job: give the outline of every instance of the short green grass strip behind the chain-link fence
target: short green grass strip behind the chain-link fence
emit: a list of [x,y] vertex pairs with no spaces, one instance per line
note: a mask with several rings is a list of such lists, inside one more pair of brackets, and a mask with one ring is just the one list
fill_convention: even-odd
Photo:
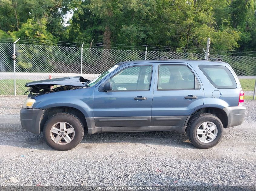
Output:
[[[30,82],[33,80],[16,80],[16,94],[17,95],[23,95],[25,91],[28,90],[27,87],[25,87],[25,84],[27,82]],[[244,91],[253,91],[254,90],[254,83],[255,79],[239,79],[241,86]],[[10,80],[0,80],[0,95],[13,95],[14,94],[14,81],[12,79]],[[253,96],[247,96],[245,95],[245,100],[252,100]]]

